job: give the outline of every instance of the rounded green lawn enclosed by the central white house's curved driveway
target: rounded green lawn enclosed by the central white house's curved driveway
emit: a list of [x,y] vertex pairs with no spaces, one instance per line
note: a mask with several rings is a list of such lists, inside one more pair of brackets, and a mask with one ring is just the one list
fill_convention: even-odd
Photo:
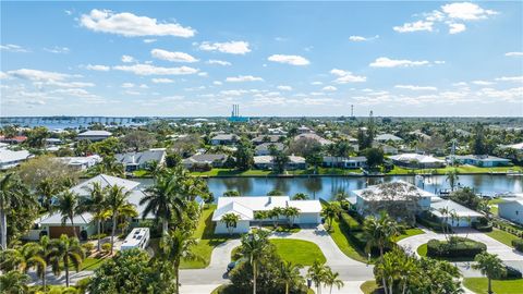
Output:
[[308,241],[271,238],[270,243],[275,244],[278,254],[287,261],[302,266],[312,266],[315,260],[319,260],[321,264],[327,261],[318,245]]

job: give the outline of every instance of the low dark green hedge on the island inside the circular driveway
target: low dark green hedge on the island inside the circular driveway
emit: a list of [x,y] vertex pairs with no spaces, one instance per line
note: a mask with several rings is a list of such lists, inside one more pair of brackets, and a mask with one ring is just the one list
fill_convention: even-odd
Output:
[[451,236],[451,240],[430,240],[427,243],[427,256],[429,257],[471,257],[485,252],[487,245],[470,238]]

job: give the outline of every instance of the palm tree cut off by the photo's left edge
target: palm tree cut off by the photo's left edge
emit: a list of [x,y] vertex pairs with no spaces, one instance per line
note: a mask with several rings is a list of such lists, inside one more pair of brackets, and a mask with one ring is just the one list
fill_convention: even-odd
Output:
[[27,187],[13,173],[8,173],[0,179],[0,240],[2,249],[8,248],[8,211],[15,207],[32,207],[36,204]]

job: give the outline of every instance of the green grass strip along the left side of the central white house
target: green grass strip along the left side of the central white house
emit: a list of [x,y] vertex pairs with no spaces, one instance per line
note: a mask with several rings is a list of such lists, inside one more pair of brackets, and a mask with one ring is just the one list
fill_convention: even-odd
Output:
[[212,249],[221,243],[228,241],[231,237],[238,237],[238,235],[216,235],[215,223],[212,222],[212,212],[216,209],[216,205],[206,207],[202,211],[198,226],[194,231],[193,237],[198,241],[198,244],[192,248],[192,252],[200,257],[196,260],[182,260],[181,269],[203,269],[209,266],[210,255]]

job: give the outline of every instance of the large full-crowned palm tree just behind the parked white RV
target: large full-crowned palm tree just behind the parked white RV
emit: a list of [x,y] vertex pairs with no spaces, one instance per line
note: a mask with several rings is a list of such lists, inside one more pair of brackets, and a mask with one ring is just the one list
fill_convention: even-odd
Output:
[[179,197],[179,188],[177,177],[163,173],[158,175],[156,183],[145,191],[145,197],[139,200],[139,205],[146,204],[142,218],[153,212],[161,220],[163,234],[167,234],[173,218],[179,222],[182,220],[185,203]]

